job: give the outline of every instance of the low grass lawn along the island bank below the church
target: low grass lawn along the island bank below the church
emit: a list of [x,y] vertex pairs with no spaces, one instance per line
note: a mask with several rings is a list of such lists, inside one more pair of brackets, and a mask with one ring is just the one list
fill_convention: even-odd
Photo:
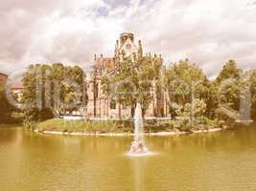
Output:
[[[215,125],[195,125],[184,126],[178,120],[147,120],[144,121],[145,132],[173,132],[191,130],[205,130],[215,128]],[[40,122],[35,129],[38,131],[70,131],[70,132],[85,132],[85,133],[132,133],[132,120],[66,120],[62,118],[53,118]]]

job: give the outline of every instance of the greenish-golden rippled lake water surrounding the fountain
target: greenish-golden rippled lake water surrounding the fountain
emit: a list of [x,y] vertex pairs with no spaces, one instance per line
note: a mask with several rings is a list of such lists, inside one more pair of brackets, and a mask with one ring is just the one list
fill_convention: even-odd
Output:
[[256,127],[147,138],[144,158],[125,155],[131,140],[0,128],[0,190],[256,190]]

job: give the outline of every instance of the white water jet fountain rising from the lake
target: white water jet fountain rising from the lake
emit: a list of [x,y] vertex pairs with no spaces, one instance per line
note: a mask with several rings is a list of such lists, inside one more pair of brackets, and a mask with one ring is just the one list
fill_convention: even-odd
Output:
[[134,140],[129,149],[129,155],[145,155],[149,152],[144,141],[144,127],[141,104],[137,103],[134,115]]

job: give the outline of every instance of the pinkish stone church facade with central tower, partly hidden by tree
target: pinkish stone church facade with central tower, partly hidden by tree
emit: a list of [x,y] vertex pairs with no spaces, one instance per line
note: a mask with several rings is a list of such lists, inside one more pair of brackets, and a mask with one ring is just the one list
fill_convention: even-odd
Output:
[[[109,100],[102,90],[101,78],[104,75],[111,75],[115,72],[116,60],[122,60],[126,56],[136,55],[145,56],[143,54],[142,43],[139,40],[138,44],[134,43],[133,33],[122,33],[120,39],[116,41],[115,53],[113,57],[104,57],[102,54],[100,57],[94,56],[94,64],[92,72],[87,74],[88,77],[88,104],[86,109],[87,117],[99,117],[99,118],[128,118],[131,116],[130,107],[125,107],[120,103],[116,103],[114,100]],[[150,54],[147,56],[151,57]],[[160,59],[163,63],[161,56],[152,56],[151,61],[154,59]],[[168,117],[168,107],[166,95],[162,91],[157,91],[154,85],[151,92],[152,101],[151,105],[145,113],[145,117]]]

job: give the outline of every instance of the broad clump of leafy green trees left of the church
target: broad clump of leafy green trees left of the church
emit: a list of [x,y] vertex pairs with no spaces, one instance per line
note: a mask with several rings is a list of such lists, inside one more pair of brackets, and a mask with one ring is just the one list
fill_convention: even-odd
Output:
[[[24,110],[26,125],[85,107],[84,79],[84,73],[78,66],[65,67],[60,63],[31,65],[23,75],[22,102],[27,106]],[[75,100],[72,107],[64,107]]]

